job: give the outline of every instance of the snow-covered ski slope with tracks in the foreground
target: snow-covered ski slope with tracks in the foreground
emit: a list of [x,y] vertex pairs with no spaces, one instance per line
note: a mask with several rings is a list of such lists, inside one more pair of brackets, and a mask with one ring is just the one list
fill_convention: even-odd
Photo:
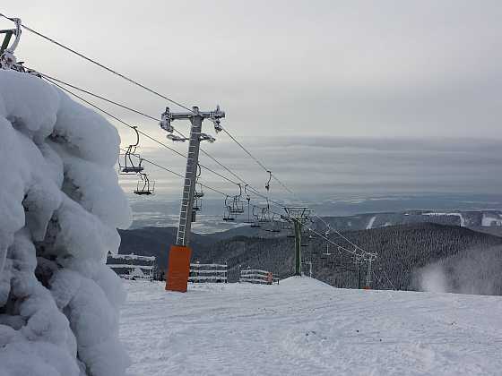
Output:
[[126,281],[128,375],[500,375],[502,298]]

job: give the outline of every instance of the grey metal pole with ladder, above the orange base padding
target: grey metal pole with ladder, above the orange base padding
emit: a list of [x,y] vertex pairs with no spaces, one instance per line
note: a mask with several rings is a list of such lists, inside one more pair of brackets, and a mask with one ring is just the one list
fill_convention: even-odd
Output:
[[185,184],[183,185],[183,198],[179,210],[179,225],[177,226],[176,244],[187,246],[192,228],[192,211],[194,208],[195,180],[197,177],[197,164],[199,162],[200,135],[203,126],[203,116],[199,115],[199,108],[193,107],[194,115],[190,118],[190,142],[188,145],[188,158],[186,158]]

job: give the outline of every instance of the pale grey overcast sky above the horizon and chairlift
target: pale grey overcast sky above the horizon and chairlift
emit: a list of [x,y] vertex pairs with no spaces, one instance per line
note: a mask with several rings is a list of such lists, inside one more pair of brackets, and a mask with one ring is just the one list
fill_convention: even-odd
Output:
[[[223,126],[302,197],[496,193],[502,184],[499,1],[27,1],[0,13],[188,107],[219,104]],[[16,56],[150,115],[169,105],[26,31]],[[186,152],[156,122],[95,103]],[[133,140],[117,129],[125,146]],[[264,192],[264,171],[216,137],[204,150]],[[140,152],[184,172],[183,158],[151,141]],[[180,178],[149,172],[161,195],[179,196]],[[237,189],[204,170],[201,180]],[[274,182],[271,194],[289,195]]]

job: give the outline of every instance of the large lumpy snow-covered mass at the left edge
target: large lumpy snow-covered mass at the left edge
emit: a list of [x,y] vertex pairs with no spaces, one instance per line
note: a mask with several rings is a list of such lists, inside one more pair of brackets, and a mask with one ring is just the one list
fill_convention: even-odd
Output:
[[120,281],[131,213],[117,130],[61,90],[0,70],[0,375],[125,373]]

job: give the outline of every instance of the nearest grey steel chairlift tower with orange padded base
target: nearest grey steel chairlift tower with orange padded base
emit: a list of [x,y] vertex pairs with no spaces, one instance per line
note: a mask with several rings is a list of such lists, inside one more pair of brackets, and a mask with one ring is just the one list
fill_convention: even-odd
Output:
[[[169,111],[169,107],[167,107],[160,118],[160,128],[169,132],[167,136],[169,140],[189,141],[176,244],[172,245],[169,250],[166,290],[186,292],[188,275],[190,273],[190,257],[192,254],[188,244],[192,222],[195,219],[195,181],[197,178],[197,166],[199,164],[200,144],[201,141],[215,141],[211,135],[202,132],[203,120],[210,119],[214,124],[214,130],[220,132],[222,130],[220,119],[223,117],[225,117],[225,113],[220,110],[220,107],[216,107],[214,111],[199,111],[199,107],[192,107],[192,111],[179,113],[172,113]],[[192,124],[188,139],[173,134],[175,129],[171,125],[171,122],[181,119],[189,120]]]

